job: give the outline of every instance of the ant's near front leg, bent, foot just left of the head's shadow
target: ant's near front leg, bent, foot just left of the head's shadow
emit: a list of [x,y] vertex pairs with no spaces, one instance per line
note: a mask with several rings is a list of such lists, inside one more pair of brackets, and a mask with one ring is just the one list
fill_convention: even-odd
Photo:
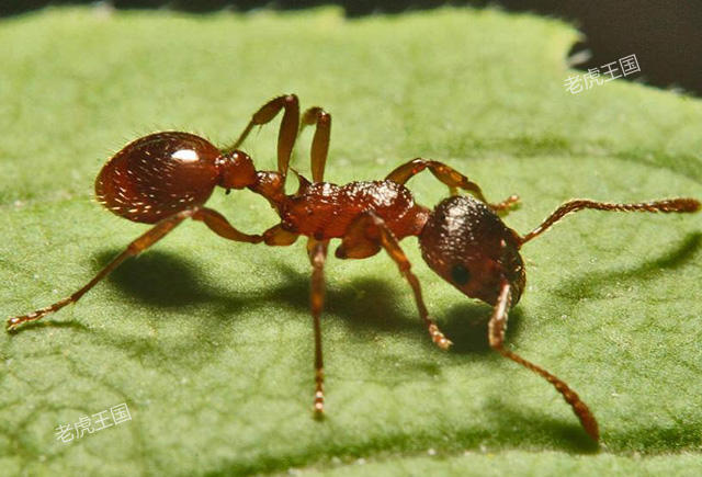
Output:
[[[374,242],[374,243],[373,243]],[[349,231],[336,251],[340,259],[365,258],[375,254],[380,247],[383,247],[388,255],[395,261],[399,272],[405,276],[415,294],[415,302],[419,310],[419,317],[427,325],[431,340],[442,350],[448,350],[453,344],[439,330],[437,323],[429,317],[429,311],[421,296],[421,286],[417,275],[411,272],[411,263],[400,248],[392,230],[387,228],[385,222],[374,212],[366,212],[361,215],[350,227]]]

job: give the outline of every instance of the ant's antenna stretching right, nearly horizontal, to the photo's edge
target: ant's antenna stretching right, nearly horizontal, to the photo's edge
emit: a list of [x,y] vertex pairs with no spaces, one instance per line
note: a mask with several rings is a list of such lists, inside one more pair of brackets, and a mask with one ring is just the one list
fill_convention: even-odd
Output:
[[596,202],[588,200],[570,201],[558,207],[551,214],[539,227],[521,238],[521,243],[537,237],[547,230],[556,222],[561,220],[571,212],[582,211],[585,208],[595,208],[598,211],[615,211],[615,212],[697,212],[700,209],[700,202],[694,198],[667,198],[664,201],[643,202],[638,204],[612,204],[607,202]]

